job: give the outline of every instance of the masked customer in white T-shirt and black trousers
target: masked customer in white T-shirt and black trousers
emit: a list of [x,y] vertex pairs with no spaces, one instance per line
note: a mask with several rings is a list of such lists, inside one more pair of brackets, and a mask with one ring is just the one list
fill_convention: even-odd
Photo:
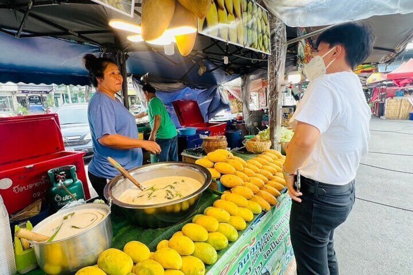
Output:
[[370,138],[371,111],[353,70],[374,40],[367,24],[337,25],[318,37],[317,55],[304,67],[310,84],[290,120],[295,134],[283,166],[298,275],[338,275],[334,230],[353,208],[354,178]]

